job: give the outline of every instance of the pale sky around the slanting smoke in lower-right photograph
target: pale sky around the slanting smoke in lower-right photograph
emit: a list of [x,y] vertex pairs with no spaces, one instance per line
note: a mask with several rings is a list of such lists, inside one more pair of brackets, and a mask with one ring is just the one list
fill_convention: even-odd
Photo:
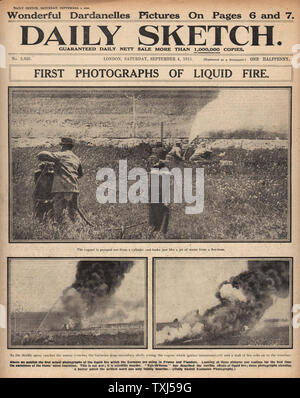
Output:
[[[219,304],[219,285],[247,270],[247,259],[161,259],[156,261],[156,321],[172,322],[190,311]],[[289,299],[274,299],[264,318],[285,318]]]

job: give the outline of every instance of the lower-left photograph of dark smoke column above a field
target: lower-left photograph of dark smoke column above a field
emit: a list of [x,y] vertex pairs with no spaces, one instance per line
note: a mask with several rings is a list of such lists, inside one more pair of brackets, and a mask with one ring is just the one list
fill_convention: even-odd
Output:
[[10,258],[8,348],[146,348],[143,258]]

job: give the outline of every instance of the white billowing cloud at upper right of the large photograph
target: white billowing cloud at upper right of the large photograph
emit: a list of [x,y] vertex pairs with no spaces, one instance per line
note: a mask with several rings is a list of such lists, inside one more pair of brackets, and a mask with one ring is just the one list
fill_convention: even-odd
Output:
[[288,90],[222,89],[215,100],[198,112],[190,141],[219,132],[225,136],[241,130],[287,134],[288,129]]

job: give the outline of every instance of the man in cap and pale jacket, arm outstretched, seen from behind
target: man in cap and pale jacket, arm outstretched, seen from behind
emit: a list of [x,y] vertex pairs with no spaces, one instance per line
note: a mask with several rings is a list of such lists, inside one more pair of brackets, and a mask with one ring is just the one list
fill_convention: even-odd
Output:
[[54,194],[54,218],[62,222],[63,211],[68,209],[69,217],[74,222],[78,209],[78,178],[83,175],[80,159],[72,151],[74,141],[63,137],[60,142],[61,152],[43,151],[38,159],[55,163],[55,172],[52,185]]

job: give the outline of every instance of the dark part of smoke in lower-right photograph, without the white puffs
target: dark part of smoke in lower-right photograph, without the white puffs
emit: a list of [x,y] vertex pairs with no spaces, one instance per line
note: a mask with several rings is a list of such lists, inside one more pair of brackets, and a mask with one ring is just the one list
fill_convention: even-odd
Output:
[[220,304],[203,314],[204,332],[213,335],[239,334],[253,327],[272,306],[273,296],[289,294],[289,261],[248,261],[248,270],[225,283],[240,289],[245,300],[222,296],[220,286],[216,297]]

